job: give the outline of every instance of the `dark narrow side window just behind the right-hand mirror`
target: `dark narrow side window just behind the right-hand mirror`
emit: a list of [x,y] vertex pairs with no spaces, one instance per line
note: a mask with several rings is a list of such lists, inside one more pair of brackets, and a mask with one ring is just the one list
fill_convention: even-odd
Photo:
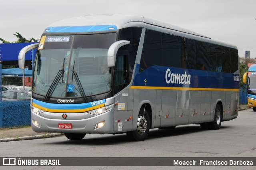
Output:
[[129,82],[128,53],[118,52],[116,56],[115,94],[124,89]]

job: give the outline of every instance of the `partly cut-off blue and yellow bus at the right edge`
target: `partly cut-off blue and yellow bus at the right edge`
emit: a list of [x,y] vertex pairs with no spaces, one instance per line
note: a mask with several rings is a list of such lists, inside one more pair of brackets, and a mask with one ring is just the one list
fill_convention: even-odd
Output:
[[244,73],[243,82],[246,83],[248,106],[256,111],[256,64],[252,64]]

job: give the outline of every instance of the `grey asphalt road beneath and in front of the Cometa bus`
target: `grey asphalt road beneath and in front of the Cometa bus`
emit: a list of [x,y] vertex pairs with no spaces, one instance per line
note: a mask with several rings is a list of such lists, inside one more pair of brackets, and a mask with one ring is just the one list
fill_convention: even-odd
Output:
[[[256,157],[255,123],[256,112],[248,109],[240,111],[237,119],[222,122],[220,130],[202,130],[200,125],[178,126],[174,130],[152,129],[148,138],[142,142],[130,142],[126,134],[86,134],[80,141],[71,141],[61,136],[2,142],[0,157]],[[44,168],[51,169],[49,166]],[[66,168],[68,167],[62,166],[62,169]],[[113,167],[97,166],[86,169],[102,168],[113,169]],[[144,166],[114,167],[114,169],[137,168],[155,169]],[[170,169],[170,167],[163,166],[159,168]],[[183,169],[184,167],[171,168]],[[187,168],[241,169],[243,167],[192,166]],[[254,169],[255,166],[244,168]]]

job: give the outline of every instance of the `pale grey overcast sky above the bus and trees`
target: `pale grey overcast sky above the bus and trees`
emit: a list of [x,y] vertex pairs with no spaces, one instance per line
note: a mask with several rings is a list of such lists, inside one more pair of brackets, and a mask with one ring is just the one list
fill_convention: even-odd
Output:
[[[256,57],[256,0],[1,0],[0,38],[40,39],[59,20],[97,14],[138,14],[234,44]],[[1,42],[0,42],[1,43]]]

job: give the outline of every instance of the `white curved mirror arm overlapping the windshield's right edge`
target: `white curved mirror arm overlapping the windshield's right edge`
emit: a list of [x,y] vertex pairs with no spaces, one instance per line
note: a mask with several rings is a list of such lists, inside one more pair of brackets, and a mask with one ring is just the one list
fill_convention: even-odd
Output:
[[123,45],[129,44],[130,41],[120,40],[114,42],[108,49],[108,67],[114,67],[116,63],[116,53],[120,47]]

